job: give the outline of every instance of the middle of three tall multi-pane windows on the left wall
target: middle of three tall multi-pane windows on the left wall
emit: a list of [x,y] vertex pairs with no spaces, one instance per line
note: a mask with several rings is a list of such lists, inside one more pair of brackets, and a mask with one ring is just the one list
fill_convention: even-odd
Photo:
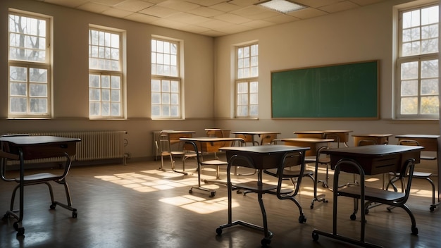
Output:
[[89,28],[89,117],[123,118],[121,33]]

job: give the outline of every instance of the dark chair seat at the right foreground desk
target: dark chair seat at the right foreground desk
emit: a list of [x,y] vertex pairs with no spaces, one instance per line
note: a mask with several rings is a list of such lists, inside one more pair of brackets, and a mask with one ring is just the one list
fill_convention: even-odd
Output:
[[[345,187],[338,192],[339,195],[360,199],[360,187]],[[396,202],[406,197],[404,192],[381,190],[374,187],[364,187],[364,197],[371,202]]]

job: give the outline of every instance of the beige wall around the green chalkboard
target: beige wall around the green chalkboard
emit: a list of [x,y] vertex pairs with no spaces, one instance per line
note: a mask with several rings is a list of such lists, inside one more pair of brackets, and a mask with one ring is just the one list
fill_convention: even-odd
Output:
[[[280,130],[294,137],[301,130],[353,130],[353,134],[439,134],[438,120],[393,120],[393,64],[396,39],[393,9],[409,1],[385,1],[352,11],[321,16],[216,39],[216,124],[232,130]],[[259,120],[234,120],[235,44],[259,42]],[[271,119],[271,71],[380,61],[379,120],[275,120]],[[396,144],[395,138],[390,140]],[[350,142],[351,144],[351,142]]]

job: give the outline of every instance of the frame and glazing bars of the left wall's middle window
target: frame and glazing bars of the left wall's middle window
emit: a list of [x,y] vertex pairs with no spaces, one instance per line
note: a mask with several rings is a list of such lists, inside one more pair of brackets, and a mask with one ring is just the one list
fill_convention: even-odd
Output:
[[[113,35],[118,35],[119,36],[119,51],[118,51],[118,67],[119,70],[108,70],[108,69],[98,69],[98,68],[91,68],[90,67],[90,59],[91,59],[91,46],[92,44],[91,42],[91,37],[90,37],[90,32],[91,30],[94,31],[99,31],[99,32],[105,32],[105,33],[109,33],[109,34],[113,34]],[[88,59],[89,59],[89,80],[88,80],[88,89],[89,89],[89,119],[91,120],[111,120],[111,119],[125,119],[125,76],[124,76],[124,70],[123,70],[123,63],[124,63],[124,58],[125,58],[125,54],[124,54],[124,49],[123,49],[123,42],[124,42],[124,31],[123,30],[116,30],[114,28],[111,27],[101,27],[101,26],[96,26],[96,25],[89,25],[88,28],[88,42],[87,42],[87,46],[88,46]],[[100,86],[99,87],[91,87],[90,85],[90,77],[91,75],[99,75],[100,77]],[[119,91],[119,101],[118,100],[112,100],[111,99],[111,92],[112,92],[112,87],[111,85],[109,87],[102,87],[101,86],[101,77],[103,76],[108,76],[108,77],[119,77],[120,78],[120,85],[119,88],[116,88]],[[91,91],[93,89],[99,89],[99,93],[100,93],[100,97],[99,100],[92,100],[91,99]],[[109,90],[109,99],[108,101],[103,100],[102,99],[102,92],[104,90]],[[92,116],[91,114],[91,108],[92,108],[92,103],[99,103],[100,105],[100,110],[99,110],[99,115],[94,115]],[[109,106],[111,106],[113,103],[118,103],[119,104],[119,115],[112,115],[111,114],[111,107],[108,109],[109,114],[108,115],[103,115],[101,110],[102,110],[102,105],[103,104],[109,104]]]

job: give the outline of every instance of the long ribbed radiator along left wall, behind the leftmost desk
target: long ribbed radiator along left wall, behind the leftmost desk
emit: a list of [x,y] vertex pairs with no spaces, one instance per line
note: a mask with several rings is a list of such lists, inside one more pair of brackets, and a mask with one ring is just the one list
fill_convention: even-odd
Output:
[[[94,161],[100,159],[123,159],[126,164],[124,147],[128,140],[126,131],[88,131],[88,132],[26,132],[28,135],[44,135],[80,138],[77,142],[75,161]],[[28,163],[65,161],[65,158],[35,159]],[[10,161],[12,162],[12,161]]]

